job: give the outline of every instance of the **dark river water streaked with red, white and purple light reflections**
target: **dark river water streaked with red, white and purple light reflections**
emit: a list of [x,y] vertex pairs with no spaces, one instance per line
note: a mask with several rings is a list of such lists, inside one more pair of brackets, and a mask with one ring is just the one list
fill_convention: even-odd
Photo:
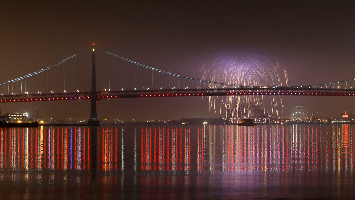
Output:
[[355,125],[0,129],[0,199],[354,199]]

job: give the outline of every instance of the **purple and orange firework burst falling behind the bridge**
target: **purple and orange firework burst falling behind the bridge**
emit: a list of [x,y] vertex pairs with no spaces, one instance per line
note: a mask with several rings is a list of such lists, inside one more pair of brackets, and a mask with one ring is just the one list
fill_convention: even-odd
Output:
[[[283,74],[282,76],[279,75],[279,71]],[[277,62],[273,65],[265,57],[245,53],[220,56],[214,60],[211,67],[205,64],[202,67],[202,72],[202,79],[210,79],[214,82],[226,84],[261,87],[285,86],[288,81],[286,70],[280,68]],[[217,87],[219,86],[209,84],[209,88]],[[220,102],[221,117],[222,109],[225,109],[226,116],[229,114],[232,120],[243,116],[243,114],[245,117],[253,117],[250,105],[263,104],[264,109],[271,111],[272,116],[278,116],[278,106],[281,105],[281,109],[283,108],[281,97],[274,96],[268,100],[263,98],[263,96],[222,96],[220,101],[217,101],[218,99],[218,96],[210,96],[208,98],[209,109],[213,108],[213,114],[215,114],[215,104]],[[247,105],[247,107],[240,106],[242,104]]]

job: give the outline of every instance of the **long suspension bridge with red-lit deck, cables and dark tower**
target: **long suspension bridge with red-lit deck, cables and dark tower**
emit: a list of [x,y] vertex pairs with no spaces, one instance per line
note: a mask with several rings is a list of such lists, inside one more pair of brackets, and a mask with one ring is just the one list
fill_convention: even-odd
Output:
[[[91,76],[91,78],[90,78]],[[137,63],[92,45],[56,64],[0,83],[0,103],[181,96],[355,96],[355,79],[305,86],[250,86],[192,78]]]

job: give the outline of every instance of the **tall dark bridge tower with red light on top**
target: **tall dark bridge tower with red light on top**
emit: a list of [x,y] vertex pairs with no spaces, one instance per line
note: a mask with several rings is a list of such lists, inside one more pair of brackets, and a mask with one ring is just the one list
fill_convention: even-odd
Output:
[[100,120],[96,113],[96,60],[95,60],[95,44],[92,46],[92,71],[91,71],[91,115],[88,120],[88,126],[100,126]]

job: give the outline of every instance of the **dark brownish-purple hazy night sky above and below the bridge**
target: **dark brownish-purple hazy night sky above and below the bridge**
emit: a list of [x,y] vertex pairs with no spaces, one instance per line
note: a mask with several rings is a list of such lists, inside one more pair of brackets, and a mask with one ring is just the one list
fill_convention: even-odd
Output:
[[[158,69],[201,78],[201,66],[225,52],[277,60],[288,84],[355,78],[354,1],[2,1],[0,82],[88,48]],[[354,98],[283,97],[280,116],[304,105],[323,116],[354,113]],[[89,101],[0,104],[1,114],[29,112],[60,119],[90,115]],[[201,98],[110,99],[99,119],[213,117]],[[215,116],[219,117],[219,116]]]

